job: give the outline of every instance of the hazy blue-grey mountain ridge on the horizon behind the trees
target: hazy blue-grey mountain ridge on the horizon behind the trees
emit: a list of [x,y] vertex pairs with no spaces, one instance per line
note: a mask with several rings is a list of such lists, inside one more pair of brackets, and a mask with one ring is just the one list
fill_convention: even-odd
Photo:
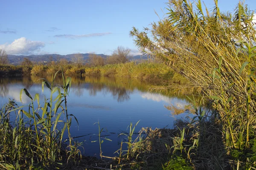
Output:
[[[67,59],[68,61],[72,60],[72,57],[74,57],[75,54],[67,54],[67,55],[60,55],[60,54],[43,54],[43,55],[29,55],[29,56],[25,56],[25,55],[8,55],[9,61],[11,64],[14,65],[18,65],[20,64],[23,59],[29,58],[31,61],[33,62],[49,62],[49,61],[58,61],[60,59]],[[89,59],[89,53],[86,54],[81,54],[84,57],[85,61],[88,61]],[[105,54],[96,54],[99,55],[103,58],[107,58],[108,55]],[[131,58],[131,60],[137,60],[137,59],[147,59],[146,56],[134,56]]]

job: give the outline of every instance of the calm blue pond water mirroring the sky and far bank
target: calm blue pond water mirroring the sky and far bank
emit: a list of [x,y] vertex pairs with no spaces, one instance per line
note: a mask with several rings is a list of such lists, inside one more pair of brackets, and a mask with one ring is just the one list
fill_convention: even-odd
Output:
[[[20,102],[22,88],[26,88],[31,96],[39,93],[41,102],[43,102],[44,95],[49,97],[49,91],[45,90],[44,94],[42,93],[41,82],[36,82],[38,79],[38,77],[0,78],[0,105],[3,106],[9,98],[15,99],[18,105],[28,105],[30,99],[25,95],[22,97],[22,103]],[[135,124],[140,120],[136,132],[141,127],[163,128],[167,126],[171,128],[176,118],[187,115],[187,113],[182,113],[172,117],[170,111],[164,107],[170,104],[180,107],[188,105],[185,97],[152,93],[147,91],[147,85],[152,84],[131,78],[72,78],[67,107],[69,113],[74,114],[78,119],[79,126],[72,121],[71,134],[73,137],[83,136],[76,139],[84,141],[85,155],[99,156],[99,143],[91,142],[97,140],[94,134],[98,133],[98,126],[93,124],[98,120],[100,126],[105,128],[105,133],[102,135],[110,135],[108,138],[112,140],[112,142],[105,140],[102,143],[103,155],[113,156],[113,153],[119,149],[121,140],[117,136],[120,132],[128,131],[127,127],[130,122]]]

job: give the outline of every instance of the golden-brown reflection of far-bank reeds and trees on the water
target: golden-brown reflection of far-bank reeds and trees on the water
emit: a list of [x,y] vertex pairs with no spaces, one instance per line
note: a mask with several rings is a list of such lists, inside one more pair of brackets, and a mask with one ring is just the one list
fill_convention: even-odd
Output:
[[[52,79],[51,76],[45,77],[1,77],[0,78],[0,96],[5,97],[9,93],[9,85],[22,84],[24,88],[29,90],[31,85],[41,86],[41,83],[47,79],[49,82]],[[61,77],[57,77],[55,80],[55,85],[62,84]],[[89,91],[90,96],[96,96],[97,93],[102,93],[103,95],[111,93],[113,99],[118,102],[125,102],[130,99],[130,95],[134,90],[147,91],[148,85],[157,85],[156,82],[148,82],[142,79],[132,79],[128,77],[72,77],[71,91],[77,97],[84,95],[85,91]],[[20,89],[19,89],[20,90]],[[164,92],[165,95],[172,96],[173,94],[168,94]],[[177,94],[175,94],[177,96]],[[185,98],[184,95],[179,96],[180,98]]]

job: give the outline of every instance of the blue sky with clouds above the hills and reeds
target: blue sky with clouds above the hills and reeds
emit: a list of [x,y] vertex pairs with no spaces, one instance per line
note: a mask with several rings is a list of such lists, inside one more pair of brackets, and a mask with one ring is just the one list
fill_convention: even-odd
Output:
[[[203,1],[203,0],[202,0]],[[238,0],[218,0],[233,11]],[[255,0],[245,0],[251,10]],[[163,18],[168,0],[1,0],[0,48],[8,54],[110,55],[118,45],[138,54],[132,26]],[[204,0],[207,6],[213,0]],[[155,11],[159,17],[155,14]]]

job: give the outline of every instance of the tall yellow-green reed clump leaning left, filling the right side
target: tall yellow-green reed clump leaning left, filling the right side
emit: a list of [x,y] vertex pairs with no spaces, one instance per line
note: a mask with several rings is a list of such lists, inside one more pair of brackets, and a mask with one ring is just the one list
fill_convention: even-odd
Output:
[[[227,169],[223,159],[219,159],[224,155],[226,159],[239,160],[238,168],[239,165],[255,168],[254,13],[241,2],[233,12],[227,13],[220,11],[217,0],[214,3],[211,10],[207,7],[203,10],[200,0],[169,0],[166,18],[143,31],[133,28],[130,35],[145,54],[164,62],[195,87],[201,88],[201,103],[211,104],[212,119],[207,119],[205,111],[195,108],[195,113],[200,112],[195,126],[200,127],[194,132],[198,138],[191,139],[195,142],[192,146],[204,145],[199,148],[211,157],[203,157],[205,155],[200,155],[202,152],[198,149],[195,151],[196,158],[205,165],[202,169]],[[195,123],[193,121],[189,125]],[[202,121],[208,121],[210,125]],[[218,133],[209,143],[218,146],[219,141],[223,142],[220,148],[223,152],[214,152],[207,142],[201,141],[202,134],[212,134],[213,126],[217,127],[214,131]]]

